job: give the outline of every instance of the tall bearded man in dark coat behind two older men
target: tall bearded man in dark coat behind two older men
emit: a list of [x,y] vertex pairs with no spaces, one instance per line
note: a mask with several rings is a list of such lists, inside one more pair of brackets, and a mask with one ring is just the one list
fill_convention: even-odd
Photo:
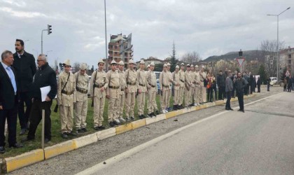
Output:
[[[20,39],[15,41],[13,54],[13,67],[18,76],[18,92],[20,92],[20,103],[18,105],[18,118],[20,120],[20,135],[28,130],[29,113],[31,111],[31,85],[36,73],[36,63],[33,55],[25,52],[25,43]],[[25,106],[27,109],[25,111]]]

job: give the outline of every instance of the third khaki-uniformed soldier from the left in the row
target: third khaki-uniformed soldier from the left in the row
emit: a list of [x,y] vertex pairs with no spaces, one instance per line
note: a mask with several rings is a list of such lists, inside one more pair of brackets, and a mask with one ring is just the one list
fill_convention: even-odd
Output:
[[106,78],[104,69],[104,62],[101,59],[98,62],[98,69],[92,73],[90,81],[90,93],[94,102],[93,120],[94,130],[104,130],[102,125],[104,118],[104,103],[106,96],[106,89],[109,87],[109,79]]

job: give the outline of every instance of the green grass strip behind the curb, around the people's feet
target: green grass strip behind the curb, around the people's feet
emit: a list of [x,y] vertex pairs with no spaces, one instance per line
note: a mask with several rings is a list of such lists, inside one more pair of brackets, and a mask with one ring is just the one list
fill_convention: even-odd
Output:
[[[97,132],[96,130],[94,130],[94,124],[93,124],[93,108],[91,107],[91,103],[92,103],[92,100],[91,99],[88,99],[88,109],[87,109],[87,119],[86,119],[86,122],[87,122],[87,133],[85,134],[78,134],[78,137],[82,137],[82,136],[85,136],[87,134],[92,134],[94,132]],[[156,103],[158,104],[158,109],[160,110],[160,96],[159,95],[156,95]],[[69,137],[69,139],[62,139],[61,137],[61,125],[60,125],[60,118],[59,118],[59,109],[58,109],[58,112],[55,113],[53,112],[53,109],[55,108],[55,105],[56,105],[56,100],[53,100],[52,102],[52,106],[51,106],[51,134],[52,134],[52,138],[51,138],[51,141],[48,143],[48,144],[45,144],[45,147],[47,146],[52,146],[52,145],[55,145],[55,144],[59,144],[63,141],[66,141],[66,140],[70,140],[70,139],[74,139],[76,137]],[[106,128],[109,128],[109,123],[108,123],[108,106],[109,106],[109,103],[108,103],[108,99],[106,99],[105,101],[105,107],[104,107],[104,122],[103,122],[103,125],[106,127]],[[170,106],[173,106],[173,98],[171,97],[170,99]],[[146,97],[146,103],[145,103],[145,109],[144,109],[144,114],[146,115],[148,112],[148,109],[147,109],[147,97]],[[125,118],[125,110],[123,112],[123,117]],[[136,104],[135,104],[135,107],[134,107],[134,117],[136,118],[136,120],[139,119],[138,117],[138,109],[137,109],[137,100],[136,100]],[[74,120],[73,120],[74,121]],[[15,155],[20,155],[22,153],[26,153],[28,151],[32,151],[32,150],[35,150],[37,148],[41,148],[41,129],[42,129],[42,126],[41,126],[42,122],[38,125],[38,128],[36,130],[36,137],[35,137],[35,140],[34,141],[26,141],[24,144],[24,147],[23,148],[18,148],[18,149],[15,149],[15,148],[8,148],[8,144],[7,144],[7,137],[6,137],[6,153],[4,154],[1,154],[0,155],[0,158],[8,158],[8,157],[13,157]],[[73,131],[75,131],[75,127],[73,125]],[[20,133],[20,125],[18,123],[18,127],[17,127],[17,140],[18,142],[20,142],[23,138],[27,137],[27,134],[23,135],[23,136],[20,136],[19,135]]]

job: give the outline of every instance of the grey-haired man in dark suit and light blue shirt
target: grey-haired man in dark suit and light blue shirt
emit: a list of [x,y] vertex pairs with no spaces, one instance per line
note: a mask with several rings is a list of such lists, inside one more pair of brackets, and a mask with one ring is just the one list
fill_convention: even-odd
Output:
[[5,153],[5,120],[8,123],[9,147],[20,148],[16,142],[16,123],[18,116],[18,87],[13,64],[13,53],[5,50],[0,64],[0,153]]

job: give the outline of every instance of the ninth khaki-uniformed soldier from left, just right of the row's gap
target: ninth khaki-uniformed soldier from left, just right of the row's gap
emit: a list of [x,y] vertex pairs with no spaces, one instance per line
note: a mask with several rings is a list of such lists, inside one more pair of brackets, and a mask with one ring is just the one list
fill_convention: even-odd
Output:
[[160,104],[162,113],[167,113],[167,106],[169,106],[169,73],[167,73],[167,64],[163,64],[163,71],[160,73]]

